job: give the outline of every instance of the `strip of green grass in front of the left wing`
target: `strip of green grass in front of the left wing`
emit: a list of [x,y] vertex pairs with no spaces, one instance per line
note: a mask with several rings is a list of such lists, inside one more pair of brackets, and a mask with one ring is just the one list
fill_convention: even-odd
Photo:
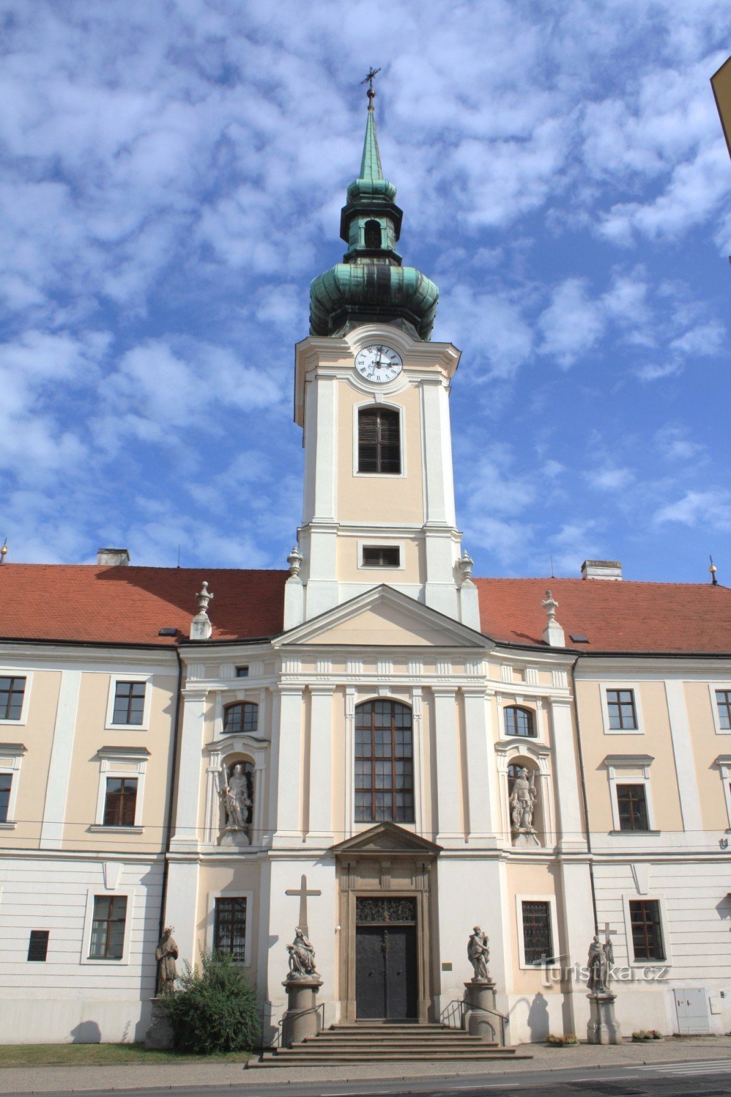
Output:
[[247,1052],[182,1055],[146,1051],[144,1043],[14,1043],[0,1044],[0,1066],[120,1066],[139,1063],[245,1063]]

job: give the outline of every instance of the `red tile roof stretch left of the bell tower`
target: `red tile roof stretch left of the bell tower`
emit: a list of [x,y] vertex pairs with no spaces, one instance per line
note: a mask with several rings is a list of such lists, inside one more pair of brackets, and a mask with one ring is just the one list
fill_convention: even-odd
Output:
[[236,568],[95,567],[3,564],[0,637],[160,644],[160,629],[190,634],[195,593],[207,579],[213,640],[254,640],[282,631],[289,572]]

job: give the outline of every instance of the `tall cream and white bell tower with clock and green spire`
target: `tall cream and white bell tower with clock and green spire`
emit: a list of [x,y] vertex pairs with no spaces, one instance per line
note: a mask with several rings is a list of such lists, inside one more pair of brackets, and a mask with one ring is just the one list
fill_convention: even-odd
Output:
[[[342,262],[314,280],[295,352],[304,502],[285,627],[387,584],[480,627],[457,529],[449,394],[460,352],[429,340],[439,291],[396,250],[402,211],[383,177],[373,100],[348,186]],[[378,642],[378,638],[374,641]]]

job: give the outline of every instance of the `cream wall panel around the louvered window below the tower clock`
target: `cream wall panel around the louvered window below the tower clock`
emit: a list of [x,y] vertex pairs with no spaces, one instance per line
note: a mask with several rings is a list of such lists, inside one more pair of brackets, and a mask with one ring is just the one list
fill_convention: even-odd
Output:
[[353,473],[353,408],[370,405],[362,392],[347,382],[338,384],[338,520],[340,522],[389,522],[421,525],[424,522],[421,477],[421,411],[419,391],[408,385],[384,405],[401,406],[403,412],[402,460],[405,476],[360,476]]

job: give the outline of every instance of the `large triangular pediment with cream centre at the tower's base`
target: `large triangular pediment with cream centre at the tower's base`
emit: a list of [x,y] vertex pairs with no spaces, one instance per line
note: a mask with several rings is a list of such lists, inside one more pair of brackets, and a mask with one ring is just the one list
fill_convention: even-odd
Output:
[[485,647],[473,629],[393,587],[374,587],[274,642],[353,647]]

